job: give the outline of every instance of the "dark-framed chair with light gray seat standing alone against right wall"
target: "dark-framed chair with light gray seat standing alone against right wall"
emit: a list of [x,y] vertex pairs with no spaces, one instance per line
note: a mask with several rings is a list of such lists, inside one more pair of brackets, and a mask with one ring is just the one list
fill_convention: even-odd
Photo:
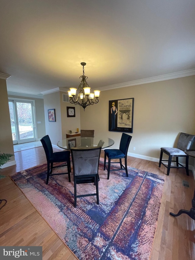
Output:
[[[164,165],[167,168],[167,175],[169,175],[171,168],[184,168],[184,169],[186,169],[186,174],[189,175],[189,168],[188,168],[189,156],[186,155],[184,151],[186,149],[190,148],[190,146],[194,142],[194,139],[195,139],[195,135],[180,133],[179,140],[177,143],[177,148],[161,147],[161,154],[160,154],[160,160],[159,160],[158,167],[161,167],[161,164]],[[168,160],[162,159],[163,153],[168,155]],[[172,157],[176,157],[176,160],[172,160]],[[185,166],[183,164],[179,163],[178,157],[186,158]],[[168,162],[168,165],[163,162]],[[176,166],[171,166],[172,162],[176,162]]]

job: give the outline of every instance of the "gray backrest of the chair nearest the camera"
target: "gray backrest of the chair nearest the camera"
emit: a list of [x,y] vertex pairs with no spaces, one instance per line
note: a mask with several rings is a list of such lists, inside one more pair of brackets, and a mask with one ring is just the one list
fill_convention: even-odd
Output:
[[73,147],[70,151],[75,176],[98,173],[101,146],[94,148]]

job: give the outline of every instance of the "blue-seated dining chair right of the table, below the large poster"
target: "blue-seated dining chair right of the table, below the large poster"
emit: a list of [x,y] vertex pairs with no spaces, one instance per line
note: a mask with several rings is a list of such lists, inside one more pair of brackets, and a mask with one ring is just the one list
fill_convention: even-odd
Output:
[[[119,171],[122,168],[125,169],[126,176],[128,177],[127,171],[127,152],[129,148],[129,144],[131,141],[132,136],[122,133],[121,141],[119,149],[105,149],[104,152],[104,170],[107,169],[109,180],[110,171]],[[106,162],[106,157],[108,157],[108,162]],[[122,164],[122,158],[125,158],[125,166]],[[112,159],[119,159],[119,162],[111,162]],[[120,163],[119,169],[110,169],[111,163]]]

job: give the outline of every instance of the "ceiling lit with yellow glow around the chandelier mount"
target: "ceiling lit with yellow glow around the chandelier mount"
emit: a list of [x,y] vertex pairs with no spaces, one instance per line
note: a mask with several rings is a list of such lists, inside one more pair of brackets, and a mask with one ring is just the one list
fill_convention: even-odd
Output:
[[195,68],[194,0],[1,0],[9,92],[92,89]]

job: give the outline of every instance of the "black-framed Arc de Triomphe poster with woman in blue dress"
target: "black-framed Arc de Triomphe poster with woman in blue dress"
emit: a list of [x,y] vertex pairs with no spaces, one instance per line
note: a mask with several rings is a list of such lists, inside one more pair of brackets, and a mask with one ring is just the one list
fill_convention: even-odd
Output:
[[109,131],[133,133],[134,98],[109,101]]

